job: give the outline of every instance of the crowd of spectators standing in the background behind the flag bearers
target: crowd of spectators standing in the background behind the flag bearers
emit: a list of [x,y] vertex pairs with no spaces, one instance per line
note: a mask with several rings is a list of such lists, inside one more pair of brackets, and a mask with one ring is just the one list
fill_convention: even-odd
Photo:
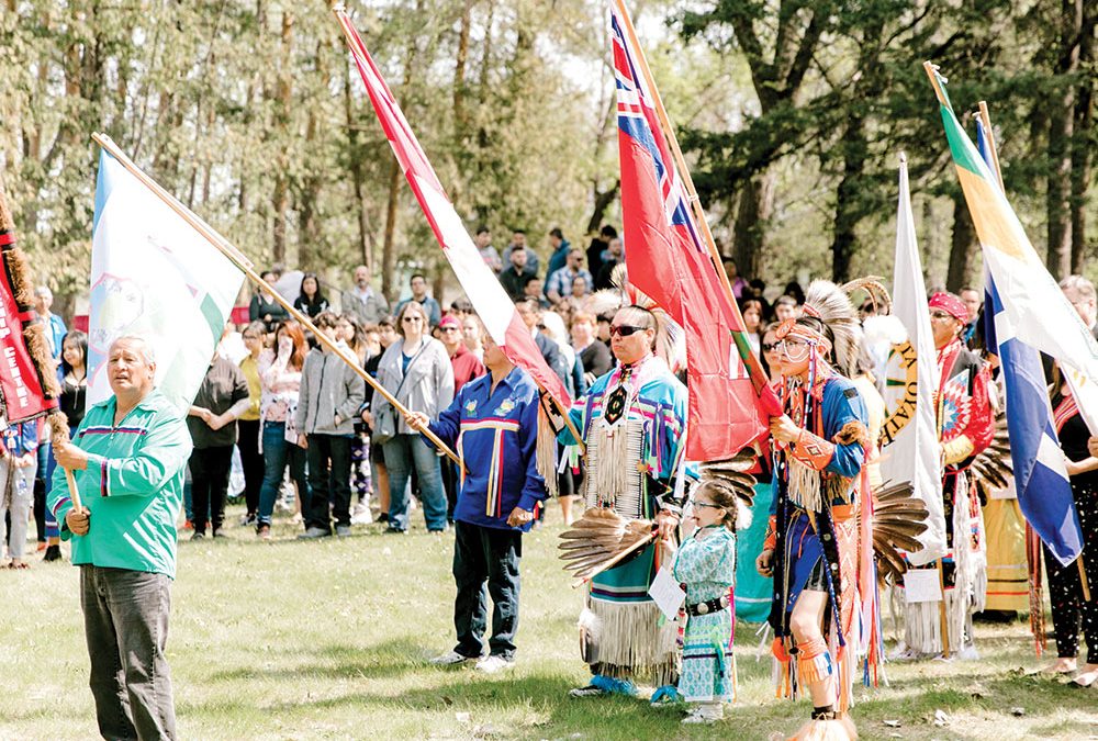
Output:
[[[589,297],[610,288],[614,269],[625,261],[617,231],[604,226],[584,249],[553,228],[540,257],[523,229],[514,229],[497,249],[491,231],[481,227],[474,244],[515,302],[547,364],[573,396],[582,395],[613,367],[610,317],[593,312]],[[761,281],[739,276],[733,262],[726,262],[726,270],[750,341],[766,364],[775,323],[796,312],[804,293],[791,283],[770,302]],[[238,497],[245,512],[235,525],[254,528],[264,540],[272,537],[279,513],[306,539],[347,536],[352,525],[373,521],[385,524],[390,532],[405,532],[415,508],[423,510],[428,530],[447,530],[459,485],[456,465],[408,429],[403,416],[339,356],[356,358],[401,404],[434,417],[463,384],[485,373],[484,328],[472,305],[459,299],[444,310],[421,272],[410,276],[405,297],[393,305],[366,266],[356,267],[341,290],[316,273],[296,274],[300,282],[291,278],[289,287],[282,270],[261,277],[269,285],[279,284],[283,295],[295,294],[293,307],[329,341],[309,335],[266,289],[251,295],[247,322],[236,315],[240,322],[226,326],[188,415],[194,451],[183,528],[192,538],[220,537],[226,503]],[[61,408],[75,429],[87,393],[87,335],[68,330],[51,312],[52,300],[48,289],[36,291],[37,312],[58,362]],[[329,345],[346,352],[337,355]],[[14,476],[26,481],[25,486],[16,483],[3,513],[7,523],[15,523],[5,529],[8,540],[22,540],[19,524],[33,514],[38,549],[56,560],[57,525],[44,508],[54,467],[45,427],[30,423],[3,433],[7,453],[0,475],[7,475],[5,467],[31,474]],[[581,482],[579,470],[559,474],[565,520]],[[7,555],[11,568],[26,564],[19,546],[9,544]]]

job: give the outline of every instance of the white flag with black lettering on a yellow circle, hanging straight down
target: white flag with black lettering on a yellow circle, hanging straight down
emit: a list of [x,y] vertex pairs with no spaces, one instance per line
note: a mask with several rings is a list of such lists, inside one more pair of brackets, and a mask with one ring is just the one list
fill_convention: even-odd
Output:
[[899,168],[893,315],[903,324],[904,336],[892,338],[881,379],[886,409],[879,440],[881,476],[885,484],[910,482],[915,496],[927,505],[930,513],[927,530],[919,536],[922,550],[909,554],[911,563],[925,565],[945,554],[945,516],[934,414],[938,362],[922,260],[915,237],[906,159]]

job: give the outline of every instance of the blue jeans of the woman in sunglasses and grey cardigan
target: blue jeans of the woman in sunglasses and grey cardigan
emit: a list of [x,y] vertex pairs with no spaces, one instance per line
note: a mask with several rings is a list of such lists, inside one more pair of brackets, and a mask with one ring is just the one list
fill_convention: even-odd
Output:
[[415,467],[427,529],[445,530],[446,494],[442,493],[442,472],[435,448],[418,435],[397,435],[384,444],[384,453],[389,469],[389,528],[408,529],[407,483],[412,467]]

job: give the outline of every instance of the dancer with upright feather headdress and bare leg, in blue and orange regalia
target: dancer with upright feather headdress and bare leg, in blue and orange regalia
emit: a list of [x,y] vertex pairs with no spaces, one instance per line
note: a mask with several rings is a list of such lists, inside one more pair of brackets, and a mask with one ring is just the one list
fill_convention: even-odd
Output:
[[866,617],[860,620],[859,610],[875,596],[863,547],[870,510],[860,512],[872,442],[850,380],[860,335],[850,299],[822,280],[809,287],[803,315],[777,332],[785,414],[771,420],[776,496],[757,568],[774,576],[770,622],[783,689],[793,697],[807,689],[813,698],[811,720],[795,738],[854,736],[847,714]]

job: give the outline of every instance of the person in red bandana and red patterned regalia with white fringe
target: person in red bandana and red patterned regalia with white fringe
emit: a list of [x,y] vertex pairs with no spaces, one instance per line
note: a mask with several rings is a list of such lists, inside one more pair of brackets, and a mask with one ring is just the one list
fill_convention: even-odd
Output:
[[975,658],[972,614],[984,609],[987,596],[987,543],[979,497],[966,470],[990,444],[995,416],[988,400],[987,367],[961,341],[968,322],[967,306],[945,292],[932,295],[928,305],[938,349],[935,406],[948,551],[943,559],[921,569],[941,571],[948,640],[942,639],[940,602],[907,603],[903,654]]

